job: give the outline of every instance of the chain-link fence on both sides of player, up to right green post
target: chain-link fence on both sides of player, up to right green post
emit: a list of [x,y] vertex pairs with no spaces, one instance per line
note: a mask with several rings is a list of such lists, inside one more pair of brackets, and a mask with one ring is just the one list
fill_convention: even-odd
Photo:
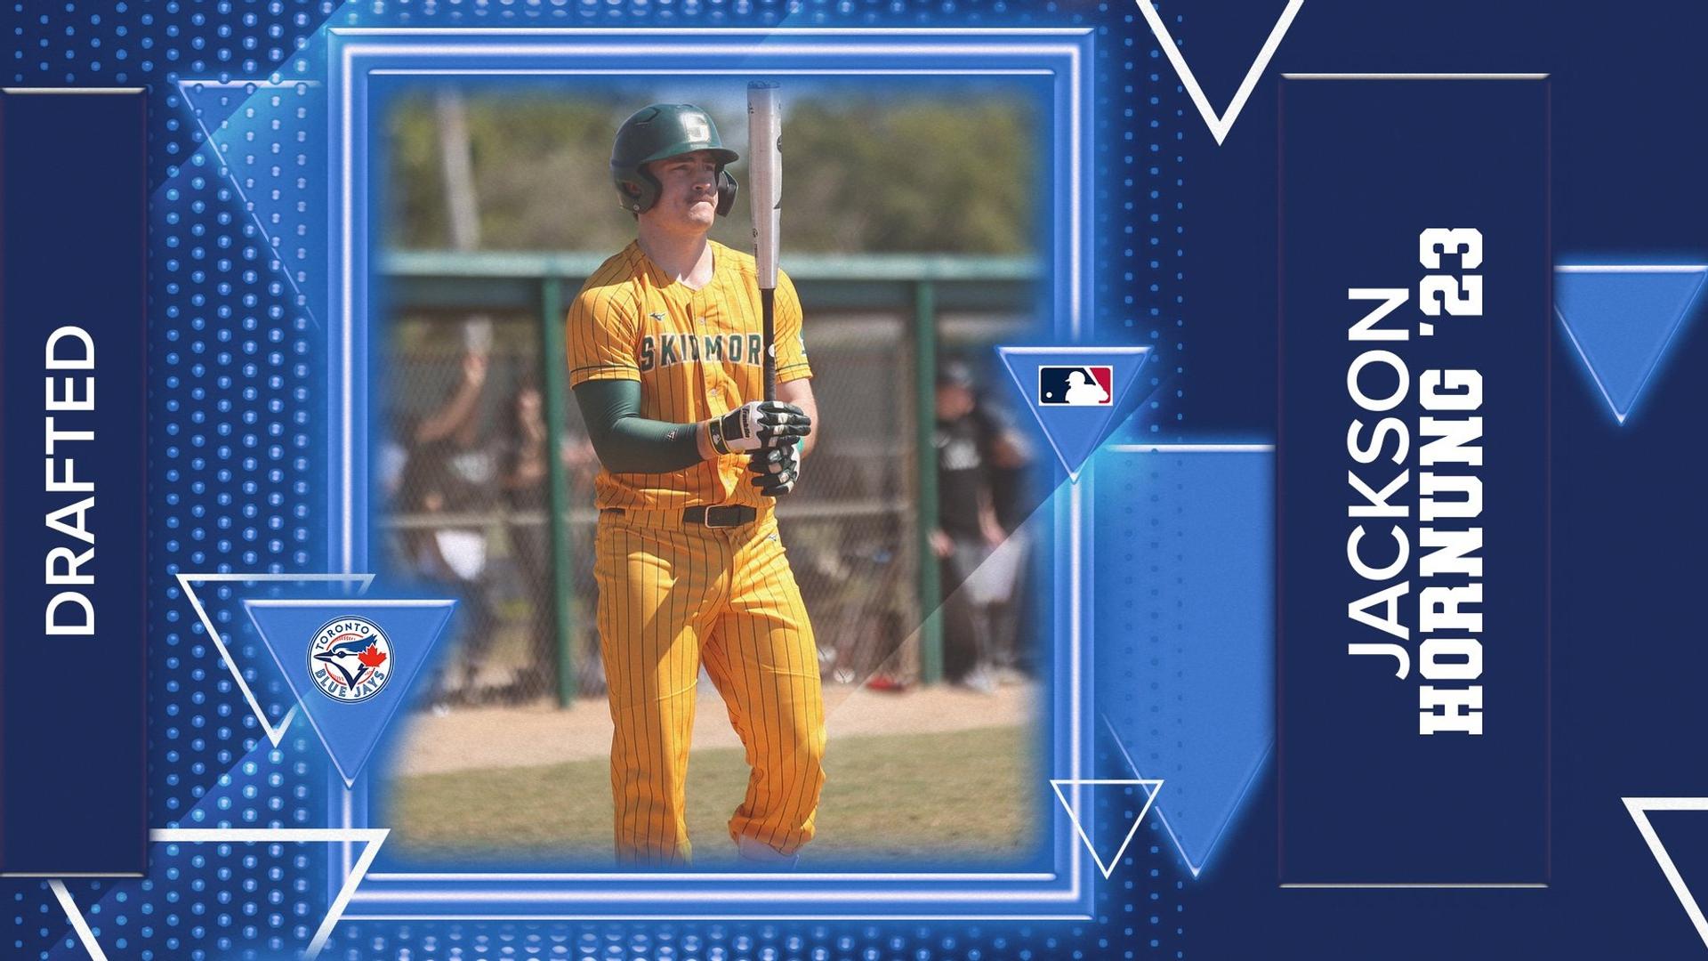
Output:
[[[854,682],[921,619],[909,328],[900,315],[820,311],[808,345],[822,433],[806,479],[779,504],[779,525],[825,677]],[[593,617],[598,460],[572,402],[562,436],[548,436],[543,351],[541,321],[528,313],[408,313],[388,333],[384,544],[393,571],[461,602],[430,703],[603,691]],[[562,633],[553,451],[569,491]]]

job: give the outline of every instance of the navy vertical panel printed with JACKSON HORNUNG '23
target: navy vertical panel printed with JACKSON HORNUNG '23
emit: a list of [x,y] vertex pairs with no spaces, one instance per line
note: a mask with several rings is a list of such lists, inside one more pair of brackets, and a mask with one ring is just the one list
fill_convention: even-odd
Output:
[[1281,881],[1544,882],[1547,85],[1283,80],[1279,162]]

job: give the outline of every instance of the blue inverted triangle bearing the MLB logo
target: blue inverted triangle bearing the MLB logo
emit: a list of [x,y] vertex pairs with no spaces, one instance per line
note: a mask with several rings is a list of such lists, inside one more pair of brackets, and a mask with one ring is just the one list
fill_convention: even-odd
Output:
[[[1015,378],[1027,409],[1044,427],[1044,438],[1068,469],[1068,477],[1078,480],[1085,458],[1120,422],[1115,414],[1129,410],[1127,390],[1149,347],[997,347],[996,352]],[[1108,368],[1107,388],[1098,374],[1102,368]],[[1069,383],[1078,386],[1064,392],[1057,383],[1061,378],[1076,378]],[[1069,402],[1069,392],[1079,393],[1076,400],[1083,402]]]

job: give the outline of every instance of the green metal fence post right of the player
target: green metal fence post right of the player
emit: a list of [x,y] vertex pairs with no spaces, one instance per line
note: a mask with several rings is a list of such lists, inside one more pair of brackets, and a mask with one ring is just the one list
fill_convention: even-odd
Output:
[[914,284],[914,421],[919,457],[919,675],[943,681],[943,585],[931,534],[938,528],[938,292],[931,280]]

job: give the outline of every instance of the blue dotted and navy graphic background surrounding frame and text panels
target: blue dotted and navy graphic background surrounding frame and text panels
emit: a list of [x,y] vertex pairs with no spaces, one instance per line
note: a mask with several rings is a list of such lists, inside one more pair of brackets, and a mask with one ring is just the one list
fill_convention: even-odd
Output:
[[[1279,0],[1163,7],[1189,63],[1221,108],[1279,14]],[[1701,176],[1708,103],[1699,43],[1708,7],[1688,0],[1426,5],[1307,0],[1225,145],[1211,140],[1131,3],[591,0],[436,3],[22,3],[7,7],[12,84],[149,84],[150,139],[150,804],[155,824],[307,826],[325,807],[326,764],[294,728],[278,751],[236,696],[171,569],[231,564],[326,569],[306,504],[325,491],[325,398],[313,298],[299,241],[265,236],[219,171],[173,79],[319,79],[311,38],[325,22],[446,26],[1076,26],[1098,27],[1098,328],[1158,347],[1160,378],[1129,424],[1143,439],[1271,436],[1274,427],[1274,150],[1281,70],[1547,70],[1554,74],[1554,248],[1561,258],[1708,255]],[[285,135],[313,130],[285,87]],[[239,118],[241,120],[241,118]],[[260,127],[260,123],[258,123]],[[265,166],[261,168],[265,169]],[[287,202],[323,185],[287,166]],[[241,185],[239,185],[241,186]],[[263,192],[273,185],[261,186]],[[270,262],[277,260],[273,265]],[[1696,318],[1699,320],[1699,318]],[[1554,366],[1554,874],[1546,891],[1281,891],[1272,775],[1254,785],[1202,877],[1190,881],[1155,824],[1098,887],[1083,923],[342,925],[335,956],[825,956],[825,958],[1694,958],[1701,940],[1629,822],[1621,795],[1705,795],[1693,752],[1699,677],[1698,412],[1708,385],[1699,323],[1688,323],[1640,414],[1616,426],[1576,359]],[[236,404],[234,404],[236,398]],[[253,416],[246,416],[253,414]],[[208,588],[219,597],[220,592]],[[253,663],[258,650],[215,617]],[[261,682],[270,716],[289,703]],[[253,756],[251,756],[253,754]],[[1098,771],[1119,759],[1098,752]],[[253,766],[251,766],[253,764]],[[1105,768],[1107,764],[1107,768]],[[1114,773],[1110,776],[1120,776]],[[1657,821],[1662,838],[1672,819]],[[1112,819],[1115,821],[1115,819]],[[1682,838],[1681,838],[1682,841]],[[243,858],[253,858],[246,864]],[[1682,852],[1676,852],[1686,860]],[[285,958],[326,894],[325,852],[154,852],[133,886],[73,882],[114,958]],[[222,872],[225,876],[222,877]],[[243,879],[261,879],[246,887]],[[1686,867],[1686,877],[1691,877]],[[278,894],[272,894],[277,891]],[[53,898],[7,882],[7,947],[77,958]]]

